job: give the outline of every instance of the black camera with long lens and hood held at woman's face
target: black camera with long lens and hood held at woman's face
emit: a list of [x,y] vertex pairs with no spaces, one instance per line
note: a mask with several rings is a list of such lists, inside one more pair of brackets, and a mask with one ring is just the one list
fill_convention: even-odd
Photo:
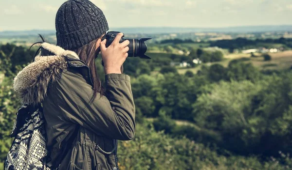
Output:
[[[117,34],[120,33],[118,31],[109,31],[102,40],[107,39],[106,47],[110,46],[114,38]],[[124,37],[124,35],[123,35]],[[151,59],[145,53],[147,51],[146,41],[152,38],[140,38],[140,39],[124,39],[121,38],[120,43],[124,42],[125,40],[129,40],[130,44],[128,45],[128,57],[140,57],[141,59]]]

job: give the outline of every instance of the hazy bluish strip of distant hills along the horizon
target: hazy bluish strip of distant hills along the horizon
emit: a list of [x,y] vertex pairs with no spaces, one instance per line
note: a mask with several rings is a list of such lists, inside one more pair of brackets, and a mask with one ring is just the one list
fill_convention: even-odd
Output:
[[[124,33],[185,33],[185,32],[271,32],[271,31],[292,31],[292,25],[279,26],[242,26],[225,28],[179,28],[179,27],[141,27],[141,28],[111,28],[112,31]],[[55,30],[31,30],[31,31],[0,31],[0,37],[7,36],[31,36],[38,33],[43,35],[55,35]]]

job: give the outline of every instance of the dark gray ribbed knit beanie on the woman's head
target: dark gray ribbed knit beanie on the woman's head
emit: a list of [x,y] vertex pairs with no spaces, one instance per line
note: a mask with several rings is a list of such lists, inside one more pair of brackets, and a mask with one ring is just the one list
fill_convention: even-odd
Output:
[[103,12],[89,0],[68,0],[61,5],[55,20],[57,46],[76,49],[109,30]]

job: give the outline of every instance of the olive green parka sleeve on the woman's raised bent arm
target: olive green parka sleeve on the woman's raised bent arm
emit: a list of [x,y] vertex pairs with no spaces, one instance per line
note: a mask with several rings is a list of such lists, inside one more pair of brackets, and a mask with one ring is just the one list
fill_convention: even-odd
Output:
[[135,105],[130,77],[125,74],[105,76],[106,93],[98,93],[91,103],[93,88],[74,69],[64,70],[57,80],[56,97],[64,119],[80,124],[97,135],[130,140],[135,134]]

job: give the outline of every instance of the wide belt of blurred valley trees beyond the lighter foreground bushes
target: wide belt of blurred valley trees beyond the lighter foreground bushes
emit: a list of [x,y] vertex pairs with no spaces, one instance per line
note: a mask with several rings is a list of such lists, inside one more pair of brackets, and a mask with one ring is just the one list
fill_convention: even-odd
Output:
[[[173,67],[160,72],[132,79],[137,117],[158,117],[157,130],[215,143],[236,155],[292,154],[289,70],[266,75],[251,63],[234,60],[227,68],[202,67],[197,75],[180,75]],[[177,126],[178,119],[199,128]]]

